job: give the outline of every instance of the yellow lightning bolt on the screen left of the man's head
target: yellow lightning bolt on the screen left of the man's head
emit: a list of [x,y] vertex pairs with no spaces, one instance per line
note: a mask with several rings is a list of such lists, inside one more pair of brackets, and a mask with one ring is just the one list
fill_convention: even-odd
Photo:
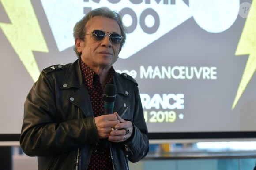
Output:
[[40,71],[32,51],[49,52],[30,0],[0,0],[11,24],[0,23],[19,59],[34,81]]

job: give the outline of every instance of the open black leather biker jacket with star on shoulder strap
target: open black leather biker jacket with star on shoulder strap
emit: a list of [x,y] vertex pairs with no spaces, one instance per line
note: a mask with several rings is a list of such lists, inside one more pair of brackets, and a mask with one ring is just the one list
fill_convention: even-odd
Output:
[[[115,170],[127,170],[149,149],[147,126],[136,81],[116,73],[114,112],[128,110],[123,119],[133,123],[132,136],[110,143]],[[38,156],[38,170],[86,170],[92,145],[99,141],[90,97],[83,83],[80,59],[41,72],[25,104],[20,145],[28,156]]]

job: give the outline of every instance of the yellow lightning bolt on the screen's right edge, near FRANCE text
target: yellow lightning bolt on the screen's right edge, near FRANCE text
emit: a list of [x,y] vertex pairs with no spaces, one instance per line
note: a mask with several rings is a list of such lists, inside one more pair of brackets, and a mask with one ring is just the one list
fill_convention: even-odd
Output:
[[233,102],[232,109],[235,108],[237,101],[243,94],[247,84],[252,78],[256,70],[256,1],[253,0],[248,17],[245,22],[245,27],[241,34],[241,38],[237,45],[235,55],[249,55],[245,70],[237,90],[237,95]]

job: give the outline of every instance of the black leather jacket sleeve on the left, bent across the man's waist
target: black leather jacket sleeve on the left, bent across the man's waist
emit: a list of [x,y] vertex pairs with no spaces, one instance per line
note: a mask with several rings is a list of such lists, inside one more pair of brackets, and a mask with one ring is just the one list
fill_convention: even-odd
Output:
[[60,84],[54,79],[58,77],[41,73],[24,103],[20,145],[28,156],[62,154],[98,141],[93,117],[74,117],[74,106],[70,110],[59,109],[69,104],[60,105],[59,98],[63,96],[58,96]]

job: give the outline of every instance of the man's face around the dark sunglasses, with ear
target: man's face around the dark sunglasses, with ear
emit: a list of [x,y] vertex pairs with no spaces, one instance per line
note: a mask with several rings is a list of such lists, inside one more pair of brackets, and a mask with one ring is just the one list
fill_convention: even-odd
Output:
[[78,52],[82,52],[81,58],[94,72],[99,69],[109,69],[117,61],[120,44],[112,44],[109,35],[103,40],[95,41],[90,31],[102,30],[108,33],[121,34],[117,22],[110,18],[96,16],[91,18],[85,25],[86,34],[83,40],[76,39],[75,44]]

